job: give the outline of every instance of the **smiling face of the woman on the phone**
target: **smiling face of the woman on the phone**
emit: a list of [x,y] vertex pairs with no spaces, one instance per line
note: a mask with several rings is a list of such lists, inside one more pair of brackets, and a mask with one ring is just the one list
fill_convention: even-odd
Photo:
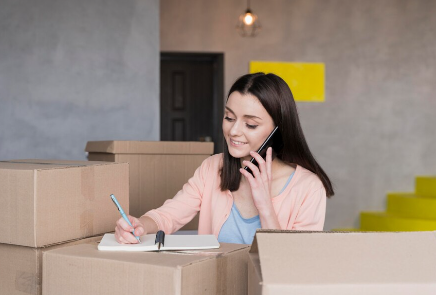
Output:
[[256,152],[274,128],[273,118],[256,96],[237,91],[230,94],[225,104],[222,131],[233,157],[250,160],[250,151]]

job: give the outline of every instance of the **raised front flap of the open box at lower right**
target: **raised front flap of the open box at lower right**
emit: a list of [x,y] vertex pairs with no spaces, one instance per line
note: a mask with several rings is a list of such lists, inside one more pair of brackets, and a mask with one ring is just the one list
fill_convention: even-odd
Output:
[[436,284],[436,232],[258,232],[263,285]]

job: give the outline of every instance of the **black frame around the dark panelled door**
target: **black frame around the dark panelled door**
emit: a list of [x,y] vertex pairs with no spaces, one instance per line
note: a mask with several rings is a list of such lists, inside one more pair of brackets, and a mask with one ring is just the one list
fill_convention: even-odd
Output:
[[[215,52],[160,52],[160,61],[212,61],[212,129],[214,138],[214,154],[223,151],[222,118],[224,116],[224,53]],[[159,64],[160,66],[160,64]],[[159,109],[160,109],[159,96]],[[159,120],[160,124],[160,120]],[[160,133],[159,133],[160,137]]]

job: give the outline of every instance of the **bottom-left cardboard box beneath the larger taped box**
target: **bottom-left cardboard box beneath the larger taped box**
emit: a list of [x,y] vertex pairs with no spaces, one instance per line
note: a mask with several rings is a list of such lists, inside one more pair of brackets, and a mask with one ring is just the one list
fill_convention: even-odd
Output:
[[90,243],[101,240],[101,237],[85,238],[43,248],[0,244],[0,294],[41,295],[44,252]]

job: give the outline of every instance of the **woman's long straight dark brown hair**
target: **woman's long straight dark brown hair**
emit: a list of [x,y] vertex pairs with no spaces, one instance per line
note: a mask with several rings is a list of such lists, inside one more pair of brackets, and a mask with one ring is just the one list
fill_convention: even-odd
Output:
[[[275,151],[277,157],[285,163],[295,163],[318,175],[324,185],[327,197],[333,196],[333,185],[315,160],[309,150],[298,118],[297,106],[294,96],[286,82],[277,75],[255,73],[243,75],[230,88],[227,100],[233,92],[251,94],[259,99],[262,106],[273,118],[282,135],[283,147]],[[223,165],[220,170],[221,191],[229,189],[237,191],[241,181],[239,158],[229,153],[227,143],[223,146]]]

